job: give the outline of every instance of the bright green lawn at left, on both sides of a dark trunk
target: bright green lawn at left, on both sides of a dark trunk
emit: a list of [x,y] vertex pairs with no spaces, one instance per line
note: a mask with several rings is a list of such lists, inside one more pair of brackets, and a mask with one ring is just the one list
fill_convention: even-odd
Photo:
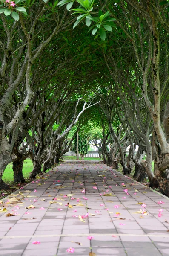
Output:
[[[29,158],[24,160],[24,163],[23,163],[23,177],[25,179],[29,178],[29,173],[32,172],[33,167],[34,167],[33,163]],[[6,167],[5,171],[4,171],[3,181],[5,183],[9,183],[9,182],[14,181],[14,172],[12,170],[12,163],[9,163],[8,166]]]

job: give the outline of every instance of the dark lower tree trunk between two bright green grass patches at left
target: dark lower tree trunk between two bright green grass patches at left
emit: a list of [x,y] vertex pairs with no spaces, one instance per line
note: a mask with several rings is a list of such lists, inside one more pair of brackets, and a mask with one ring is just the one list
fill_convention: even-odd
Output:
[[25,159],[26,157],[18,152],[17,159],[13,161],[12,169],[14,172],[14,183],[25,182],[25,179],[23,177],[23,172],[22,172],[23,161]]

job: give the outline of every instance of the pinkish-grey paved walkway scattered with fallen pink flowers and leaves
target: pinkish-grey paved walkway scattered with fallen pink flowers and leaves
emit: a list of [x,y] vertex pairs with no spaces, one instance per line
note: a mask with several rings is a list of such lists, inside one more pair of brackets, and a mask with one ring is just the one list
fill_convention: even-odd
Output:
[[169,200],[102,163],[67,161],[7,199],[0,255],[169,256]]

